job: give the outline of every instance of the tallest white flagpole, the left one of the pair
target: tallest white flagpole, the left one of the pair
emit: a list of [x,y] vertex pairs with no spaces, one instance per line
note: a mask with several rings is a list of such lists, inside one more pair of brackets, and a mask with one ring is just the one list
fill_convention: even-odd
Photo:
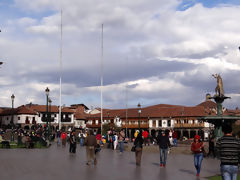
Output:
[[62,128],[62,7],[61,7],[61,39],[60,39],[60,69],[59,69],[59,115],[58,125]]

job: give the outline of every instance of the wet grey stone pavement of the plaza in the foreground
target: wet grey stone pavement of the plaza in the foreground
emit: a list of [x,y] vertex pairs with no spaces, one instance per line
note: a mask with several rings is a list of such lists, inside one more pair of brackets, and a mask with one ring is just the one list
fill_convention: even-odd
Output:
[[142,165],[136,167],[135,154],[102,149],[97,166],[86,165],[85,147],[76,154],[68,147],[53,144],[48,149],[0,149],[1,180],[195,180],[219,173],[219,161],[204,159],[200,178],[196,178],[193,156],[169,154],[167,166],[160,168],[159,153],[143,151]]

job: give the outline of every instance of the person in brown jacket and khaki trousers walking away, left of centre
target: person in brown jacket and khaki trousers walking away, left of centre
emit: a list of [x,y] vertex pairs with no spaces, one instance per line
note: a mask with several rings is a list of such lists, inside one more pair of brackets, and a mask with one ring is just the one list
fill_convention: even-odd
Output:
[[87,165],[91,165],[91,161],[94,161],[94,165],[97,165],[97,159],[95,156],[95,148],[97,147],[96,137],[93,135],[93,131],[89,130],[87,137],[85,138]]

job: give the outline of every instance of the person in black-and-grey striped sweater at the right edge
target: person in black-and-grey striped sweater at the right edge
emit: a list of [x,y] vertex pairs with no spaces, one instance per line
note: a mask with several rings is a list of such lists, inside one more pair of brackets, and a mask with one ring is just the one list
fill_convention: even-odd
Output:
[[223,180],[237,180],[238,164],[240,162],[240,141],[233,137],[232,127],[222,127],[224,136],[216,144],[217,156],[221,161],[221,175]]

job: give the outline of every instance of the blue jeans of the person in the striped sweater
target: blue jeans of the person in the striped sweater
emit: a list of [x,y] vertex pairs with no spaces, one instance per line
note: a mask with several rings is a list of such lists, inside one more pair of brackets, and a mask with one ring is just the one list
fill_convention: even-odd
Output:
[[221,165],[221,175],[223,180],[237,180],[238,166]]

